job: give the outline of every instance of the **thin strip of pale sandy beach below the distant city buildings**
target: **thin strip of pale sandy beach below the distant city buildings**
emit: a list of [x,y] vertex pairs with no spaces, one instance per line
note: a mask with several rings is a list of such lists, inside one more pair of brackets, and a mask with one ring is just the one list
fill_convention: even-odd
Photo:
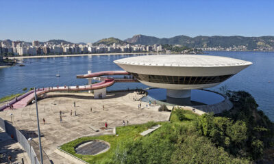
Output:
[[27,58],[45,58],[45,57],[46,58],[47,57],[77,57],[77,56],[128,55],[128,54],[166,54],[166,53],[88,53],[88,54],[71,54],[71,55],[22,56],[22,57],[9,57],[9,58],[10,59],[27,59]]

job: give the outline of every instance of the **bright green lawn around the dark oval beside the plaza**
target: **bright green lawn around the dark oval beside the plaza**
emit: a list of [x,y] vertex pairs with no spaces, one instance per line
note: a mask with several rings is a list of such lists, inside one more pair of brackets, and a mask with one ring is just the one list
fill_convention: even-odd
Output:
[[[70,141],[69,143],[65,143],[61,146],[61,149],[77,156],[79,159],[82,159],[88,163],[105,163],[107,161],[111,161],[112,157],[115,155],[116,149],[119,146],[126,144],[128,141],[135,141],[136,139],[141,139],[142,136],[140,133],[146,131],[151,126],[155,126],[156,124],[188,124],[191,120],[199,117],[199,115],[192,113],[191,111],[184,111],[184,115],[186,120],[179,121],[177,115],[173,112],[171,115],[171,123],[169,122],[147,122],[146,124],[140,125],[131,125],[131,126],[120,126],[116,128],[116,135],[101,135],[97,137],[81,137],[79,139],[75,139],[74,141]],[[108,152],[104,152],[98,155],[82,155],[76,154],[75,146],[80,143],[84,143],[86,141],[90,141],[93,139],[101,139],[110,143],[110,150]]]

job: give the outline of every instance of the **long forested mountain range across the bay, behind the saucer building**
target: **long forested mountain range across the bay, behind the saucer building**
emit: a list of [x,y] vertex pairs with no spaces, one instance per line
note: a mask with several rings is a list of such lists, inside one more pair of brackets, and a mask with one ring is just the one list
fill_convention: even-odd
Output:
[[207,48],[246,46],[247,50],[274,47],[274,36],[244,37],[244,36],[175,36],[173,38],[156,38],[153,36],[136,35],[125,42],[132,44],[181,44],[190,48]]

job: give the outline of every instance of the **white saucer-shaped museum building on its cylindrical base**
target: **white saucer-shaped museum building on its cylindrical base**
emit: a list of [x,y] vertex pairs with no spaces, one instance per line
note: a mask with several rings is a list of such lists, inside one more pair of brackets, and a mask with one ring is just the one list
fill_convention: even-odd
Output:
[[190,98],[192,89],[219,85],[252,64],[209,55],[145,55],[114,63],[145,85],[166,88],[167,98]]

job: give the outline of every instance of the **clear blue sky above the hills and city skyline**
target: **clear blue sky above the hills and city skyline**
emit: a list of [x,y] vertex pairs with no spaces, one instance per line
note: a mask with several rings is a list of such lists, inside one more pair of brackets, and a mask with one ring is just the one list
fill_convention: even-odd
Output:
[[0,0],[0,40],[274,36],[274,1]]

